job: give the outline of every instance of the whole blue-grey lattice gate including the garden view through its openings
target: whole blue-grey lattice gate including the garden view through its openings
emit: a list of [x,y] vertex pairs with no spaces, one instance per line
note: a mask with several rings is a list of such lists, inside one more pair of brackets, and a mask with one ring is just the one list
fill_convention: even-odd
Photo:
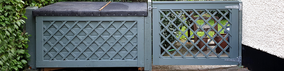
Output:
[[153,65],[238,64],[238,9],[207,2],[153,2]]

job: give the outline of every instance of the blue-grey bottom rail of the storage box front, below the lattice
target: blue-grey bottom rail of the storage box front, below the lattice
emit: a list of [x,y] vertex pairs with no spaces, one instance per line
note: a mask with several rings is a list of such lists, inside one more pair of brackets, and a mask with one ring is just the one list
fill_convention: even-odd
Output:
[[36,61],[39,68],[53,67],[137,67],[137,60],[101,60],[101,61]]

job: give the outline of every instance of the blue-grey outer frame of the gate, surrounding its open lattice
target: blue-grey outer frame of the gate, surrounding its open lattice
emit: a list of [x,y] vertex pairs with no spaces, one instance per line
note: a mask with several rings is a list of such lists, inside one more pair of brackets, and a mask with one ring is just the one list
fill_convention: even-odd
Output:
[[[164,7],[165,6],[165,4],[180,4],[180,3],[230,3],[231,5],[239,5],[239,3],[242,3],[240,0],[239,1],[153,1],[153,5],[154,4],[159,4],[159,3],[162,3],[162,4],[164,4],[163,6],[160,6],[161,8],[162,7]],[[231,5],[228,5],[228,6],[231,6]],[[179,6],[181,6],[181,5],[179,5]],[[185,6],[185,5],[182,5],[182,6]],[[157,6],[155,6],[155,7],[157,7],[157,9],[153,9],[153,20],[155,19],[155,18],[159,18],[158,17],[158,15],[157,14],[159,14],[160,12],[158,12],[158,10],[159,10],[159,6],[157,5]],[[174,9],[182,9],[181,7],[179,7],[179,8],[175,8],[175,7],[173,7],[173,6],[167,6],[167,7],[170,7],[169,9],[171,9],[171,8],[174,8]],[[218,7],[218,8],[222,8],[222,7]],[[163,9],[165,9],[165,7],[163,8]],[[187,8],[188,9],[188,8]],[[192,8],[192,9],[197,9],[197,8]],[[214,9],[214,7],[210,7],[210,8],[208,8],[208,9]],[[227,9],[227,8],[222,8],[222,9]],[[235,18],[235,20],[232,20],[232,22],[237,22],[237,23],[235,23],[235,24],[237,24],[238,25],[238,27],[239,28],[235,28],[236,30],[233,30],[233,31],[235,31],[235,33],[236,34],[238,34],[238,36],[235,36],[235,37],[238,37],[238,38],[235,38],[235,39],[237,39],[238,40],[238,42],[236,42],[236,44],[234,44],[234,45],[237,45],[238,46],[238,48],[235,48],[235,49],[237,49],[238,51],[236,51],[235,53],[234,53],[234,55],[232,56],[233,58],[234,57],[236,57],[237,58],[237,56],[241,56],[241,16],[242,16],[242,14],[241,14],[241,11],[238,11],[238,12],[236,12],[236,10],[237,9],[231,9],[234,13],[232,14],[232,15],[234,15],[234,16],[230,16],[230,17],[235,17],[236,16],[236,14],[238,14],[238,17],[239,18]],[[157,13],[158,12],[158,13]],[[156,16],[154,16],[156,14]],[[231,14],[230,14],[231,15]],[[236,20],[237,19],[237,20]],[[153,21],[153,23],[156,23],[156,22],[154,22]],[[156,25],[156,26],[154,26],[154,25]],[[158,23],[158,24],[153,24],[153,27],[157,27],[157,25],[160,25],[160,23]],[[153,28],[153,30],[159,30],[159,28]],[[236,32],[236,31],[238,31],[238,33]],[[155,44],[155,43],[157,43],[157,42],[159,42],[159,40],[157,40],[157,39],[155,39],[155,38],[158,38],[158,36],[160,36],[159,34],[155,34],[155,33],[158,33],[157,31],[153,31],[153,44]],[[231,43],[233,43],[233,42],[231,42]],[[234,46],[233,45],[233,46]],[[160,47],[159,45],[153,45],[153,47]],[[158,49],[158,48],[157,48]],[[159,53],[159,52],[155,52],[154,50],[156,50],[156,49],[153,49],[153,65],[169,65],[169,64],[165,64],[165,63],[162,63],[162,62],[165,62],[165,61],[162,61],[162,62],[158,62],[158,61],[160,61],[160,58],[157,56],[158,54],[157,53]],[[156,55],[156,54],[157,55]],[[221,59],[221,58],[219,58],[219,59]],[[226,59],[226,58],[225,58]],[[228,58],[227,58],[228,59]],[[232,58],[229,58],[229,59],[232,59]],[[174,59],[171,59],[170,61],[172,61],[172,60],[174,60]],[[180,60],[188,60],[188,59],[179,59],[179,61]],[[201,62],[201,61],[205,61],[206,59],[199,59],[197,62]],[[155,63],[155,61],[157,61],[157,63]],[[216,64],[214,64],[214,65],[227,65],[227,64],[237,64],[237,65],[239,65],[239,66],[241,66],[241,64],[238,64],[238,62],[228,62],[228,61],[226,61],[225,62],[225,60],[217,60],[217,61],[222,61],[222,62],[224,62],[224,63],[220,63],[220,62],[214,62],[214,63],[216,63]],[[170,65],[213,65],[212,63],[211,64],[207,64],[206,62],[205,63],[197,63],[197,62],[192,62],[192,63],[184,63],[184,62],[171,62],[172,64],[170,64]],[[211,61],[212,62],[212,61]],[[160,64],[160,63],[162,63],[162,64]],[[183,63],[183,64],[182,64]]]

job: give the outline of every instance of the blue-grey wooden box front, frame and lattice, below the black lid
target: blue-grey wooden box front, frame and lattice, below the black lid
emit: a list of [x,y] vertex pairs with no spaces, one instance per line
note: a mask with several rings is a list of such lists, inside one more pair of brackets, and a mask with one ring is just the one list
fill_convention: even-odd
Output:
[[36,16],[36,67],[144,67],[144,19]]

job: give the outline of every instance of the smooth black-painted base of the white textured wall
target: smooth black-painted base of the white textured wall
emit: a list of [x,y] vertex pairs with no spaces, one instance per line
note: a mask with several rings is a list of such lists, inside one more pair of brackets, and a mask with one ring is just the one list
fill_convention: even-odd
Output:
[[284,59],[242,45],[242,65],[251,71],[284,71]]

